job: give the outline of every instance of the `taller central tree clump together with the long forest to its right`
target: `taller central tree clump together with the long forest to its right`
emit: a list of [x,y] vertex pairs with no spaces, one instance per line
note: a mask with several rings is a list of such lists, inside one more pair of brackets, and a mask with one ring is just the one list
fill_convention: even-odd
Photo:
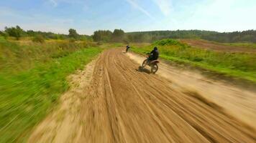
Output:
[[122,29],[99,30],[93,33],[93,41],[124,41],[124,42],[153,42],[161,39],[205,39],[221,43],[253,42],[256,43],[256,31],[234,31],[220,33],[204,30],[177,30],[177,31],[140,31],[127,32]]

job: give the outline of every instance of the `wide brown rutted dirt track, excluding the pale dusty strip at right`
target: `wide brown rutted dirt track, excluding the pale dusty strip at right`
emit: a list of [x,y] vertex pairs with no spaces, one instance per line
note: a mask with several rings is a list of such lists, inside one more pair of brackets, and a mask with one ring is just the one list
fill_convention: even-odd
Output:
[[105,51],[73,78],[79,85],[29,142],[256,142],[255,130],[229,115],[229,108],[147,74],[129,56]]

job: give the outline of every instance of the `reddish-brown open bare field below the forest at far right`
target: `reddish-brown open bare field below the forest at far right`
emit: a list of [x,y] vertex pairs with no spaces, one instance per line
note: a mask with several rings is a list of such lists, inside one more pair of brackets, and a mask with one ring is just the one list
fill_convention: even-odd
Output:
[[199,40],[199,39],[180,39],[180,41],[190,46],[195,46],[197,48],[202,48],[202,49],[234,52],[234,53],[255,53],[256,54],[256,44],[249,44],[249,43],[222,44],[214,41],[206,41],[206,40]]

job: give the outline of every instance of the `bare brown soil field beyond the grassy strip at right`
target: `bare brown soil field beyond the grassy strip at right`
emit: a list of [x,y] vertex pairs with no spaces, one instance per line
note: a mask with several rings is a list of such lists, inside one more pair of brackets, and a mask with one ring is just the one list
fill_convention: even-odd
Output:
[[218,44],[210,41],[196,40],[196,39],[180,39],[181,42],[196,46],[203,49],[211,49],[214,51],[226,51],[226,52],[239,52],[239,53],[256,53],[255,48],[246,46],[229,46]]

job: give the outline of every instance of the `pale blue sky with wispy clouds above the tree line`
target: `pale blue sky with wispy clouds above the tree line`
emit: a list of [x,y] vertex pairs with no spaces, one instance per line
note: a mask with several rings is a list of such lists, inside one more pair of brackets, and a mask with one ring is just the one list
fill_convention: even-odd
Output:
[[256,0],[1,0],[0,30],[79,34],[124,31],[256,29]]

